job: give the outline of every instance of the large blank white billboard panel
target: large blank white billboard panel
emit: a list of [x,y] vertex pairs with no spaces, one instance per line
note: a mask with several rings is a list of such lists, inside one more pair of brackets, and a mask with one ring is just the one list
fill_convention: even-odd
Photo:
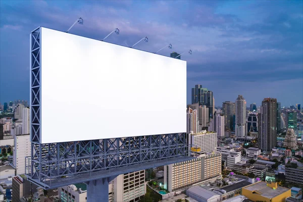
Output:
[[186,61],[47,28],[40,43],[41,143],[186,132]]

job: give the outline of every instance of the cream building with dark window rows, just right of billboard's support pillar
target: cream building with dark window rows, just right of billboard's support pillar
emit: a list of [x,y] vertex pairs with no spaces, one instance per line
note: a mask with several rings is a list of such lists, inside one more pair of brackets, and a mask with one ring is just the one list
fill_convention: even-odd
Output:
[[138,201],[145,195],[145,171],[136,171],[119,175],[113,180],[113,201]]

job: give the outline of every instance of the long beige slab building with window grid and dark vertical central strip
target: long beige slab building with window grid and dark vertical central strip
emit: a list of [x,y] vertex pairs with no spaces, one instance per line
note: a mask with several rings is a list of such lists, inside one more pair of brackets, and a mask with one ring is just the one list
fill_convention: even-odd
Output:
[[164,166],[164,188],[172,192],[193,184],[221,178],[221,154],[199,154],[196,158]]

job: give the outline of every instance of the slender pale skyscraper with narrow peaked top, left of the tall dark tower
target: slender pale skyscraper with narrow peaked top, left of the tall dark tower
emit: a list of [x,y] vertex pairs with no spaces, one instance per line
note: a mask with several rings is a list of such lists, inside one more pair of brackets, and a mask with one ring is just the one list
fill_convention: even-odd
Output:
[[236,99],[236,136],[246,136],[246,100],[242,95]]

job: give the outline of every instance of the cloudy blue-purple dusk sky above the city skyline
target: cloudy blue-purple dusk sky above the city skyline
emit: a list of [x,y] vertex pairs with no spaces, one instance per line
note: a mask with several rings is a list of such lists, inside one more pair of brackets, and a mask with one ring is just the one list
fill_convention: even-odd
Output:
[[[187,103],[195,84],[215,106],[239,94],[260,105],[303,104],[303,1],[0,1],[0,102],[29,100],[29,34],[43,26],[162,55],[187,52]],[[123,84],[121,84],[123,85]],[[83,97],[85,99],[85,97]]]

